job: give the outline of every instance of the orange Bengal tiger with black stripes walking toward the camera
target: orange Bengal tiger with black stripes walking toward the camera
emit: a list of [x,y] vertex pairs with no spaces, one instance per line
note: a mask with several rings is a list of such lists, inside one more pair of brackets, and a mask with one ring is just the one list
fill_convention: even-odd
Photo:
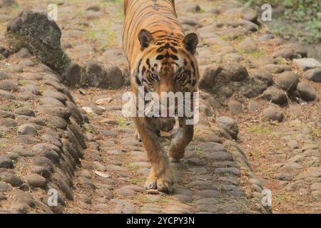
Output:
[[[131,73],[131,90],[195,92],[199,71],[195,58],[198,36],[185,35],[177,19],[174,0],[124,0],[123,51]],[[160,118],[135,117],[137,131],[151,162],[145,190],[173,191],[173,173],[159,138]],[[180,160],[193,139],[193,125],[180,117],[178,132],[168,154]]]

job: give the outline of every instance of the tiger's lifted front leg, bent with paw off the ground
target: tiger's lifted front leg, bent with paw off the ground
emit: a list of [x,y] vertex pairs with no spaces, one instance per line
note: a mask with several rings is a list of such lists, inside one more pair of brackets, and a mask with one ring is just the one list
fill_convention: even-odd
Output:
[[178,121],[178,132],[168,149],[170,157],[173,157],[174,160],[180,160],[184,157],[185,147],[188,146],[194,135],[194,125],[187,125],[185,118],[178,118]]

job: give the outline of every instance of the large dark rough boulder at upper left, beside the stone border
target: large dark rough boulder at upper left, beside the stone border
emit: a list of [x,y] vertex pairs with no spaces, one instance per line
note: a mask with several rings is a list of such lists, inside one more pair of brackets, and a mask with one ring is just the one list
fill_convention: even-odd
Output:
[[6,27],[9,51],[28,48],[39,61],[62,74],[70,59],[61,49],[61,30],[55,21],[43,13],[22,11]]

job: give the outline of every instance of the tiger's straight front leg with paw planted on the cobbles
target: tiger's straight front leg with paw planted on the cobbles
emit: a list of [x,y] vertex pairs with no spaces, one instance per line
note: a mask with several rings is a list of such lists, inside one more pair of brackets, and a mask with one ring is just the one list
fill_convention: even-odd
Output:
[[145,189],[172,192],[173,174],[169,167],[168,155],[155,132],[155,121],[151,118],[134,118],[134,120],[151,162],[151,172],[145,183]]

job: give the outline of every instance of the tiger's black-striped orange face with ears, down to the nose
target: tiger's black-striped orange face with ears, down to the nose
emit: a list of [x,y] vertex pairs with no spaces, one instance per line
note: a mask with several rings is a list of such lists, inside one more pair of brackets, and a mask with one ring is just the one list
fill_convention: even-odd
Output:
[[195,48],[198,37],[190,33],[179,41],[174,36],[164,36],[157,41],[151,33],[142,30],[138,39],[141,53],[132,69],[132,81],[136,88],[143,86],[146,92],[193,92],[198,83],[198,64]]

